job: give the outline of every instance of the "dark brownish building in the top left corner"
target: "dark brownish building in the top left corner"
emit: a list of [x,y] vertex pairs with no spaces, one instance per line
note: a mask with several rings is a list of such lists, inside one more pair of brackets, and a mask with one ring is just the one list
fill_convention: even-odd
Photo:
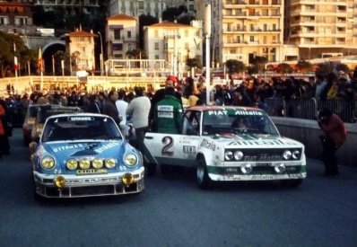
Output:
[[34,33],[30,1],[0,1],[0,31],[28,34]]

